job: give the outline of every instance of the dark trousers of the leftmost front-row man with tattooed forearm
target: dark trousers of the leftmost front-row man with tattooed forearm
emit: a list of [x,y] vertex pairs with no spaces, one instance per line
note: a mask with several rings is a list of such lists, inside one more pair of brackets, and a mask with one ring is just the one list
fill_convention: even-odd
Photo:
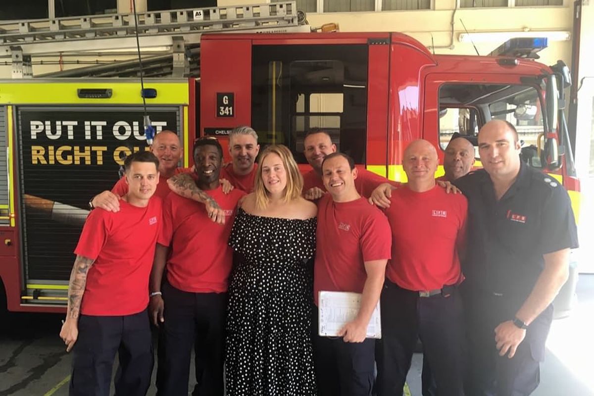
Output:
[[146,310],[127,316],[87,316],[78,319],[70,396],[108,396],[113,360],[116,396],[144,396],[153,372],[153,346]]

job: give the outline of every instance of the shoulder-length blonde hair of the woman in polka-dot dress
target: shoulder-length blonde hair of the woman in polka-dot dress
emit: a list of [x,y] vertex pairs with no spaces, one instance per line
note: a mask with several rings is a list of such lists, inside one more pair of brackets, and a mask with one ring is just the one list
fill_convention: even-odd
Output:
[[254,194],[256,198],[256,207],[264,209],[268,206],[268,190],[264,186],[264,180],[262,179],[262,163],[268,154],[276,154],[280,157],[280,160],[285,167],[287,174],[287,185],[285,187],[285,196],[283,197],[284,202],[292,201],[301,197],[301,190],[303,189],[303,176],[299,172],[299,167],[293,159],[293,154],[285,145],[273,144],[269,145],[260,154],[258,160],[258,175],[256,176],[254,183]]

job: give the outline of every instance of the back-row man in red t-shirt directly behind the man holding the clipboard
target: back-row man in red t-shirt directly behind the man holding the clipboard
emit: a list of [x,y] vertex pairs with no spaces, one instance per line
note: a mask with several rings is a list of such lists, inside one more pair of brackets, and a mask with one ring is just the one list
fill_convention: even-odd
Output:
[[[305,135],[304,156],[313,169],[303,173],[303,195],[305,199],[319,199],[326,194],[326,187],[322,180],[322,162],[331,153],[336,152],[336,145],[332,142],[328,132],[320,128],[312,128]],[[399,186],[400,183],[391,182],[380,175],[366,169],[357,169],[355,179],[356,191],[365,198],[369,198],[377,186],[390,183]]]

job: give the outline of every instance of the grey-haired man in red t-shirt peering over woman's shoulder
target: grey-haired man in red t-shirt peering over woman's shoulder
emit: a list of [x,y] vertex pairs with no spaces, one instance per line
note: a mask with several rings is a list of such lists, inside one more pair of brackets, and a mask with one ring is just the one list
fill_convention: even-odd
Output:
[[229,134],[229,154],[232,162],[221,169],[221,178],[229,180],[241,191],[251,192],[258,164],[255,159],[260,151],[258,134],[249,126],[238,126]]

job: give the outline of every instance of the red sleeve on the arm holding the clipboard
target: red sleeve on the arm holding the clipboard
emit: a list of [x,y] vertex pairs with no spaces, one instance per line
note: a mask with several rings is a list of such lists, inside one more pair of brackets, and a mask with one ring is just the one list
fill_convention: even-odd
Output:
[[365,221],[361,236],[361,252],[364,262],[391,258],[390,223],[388,218],[377,208],[374,208],[373,212],[372,216]]

